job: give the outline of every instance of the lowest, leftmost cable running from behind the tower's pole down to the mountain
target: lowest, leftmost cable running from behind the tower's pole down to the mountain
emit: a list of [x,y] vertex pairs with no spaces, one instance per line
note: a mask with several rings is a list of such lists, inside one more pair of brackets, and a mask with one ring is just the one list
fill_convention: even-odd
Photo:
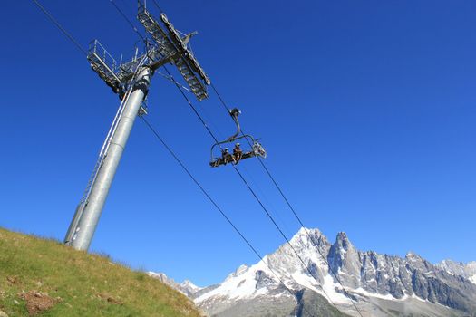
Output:
[[[209,195],[209,192],[199,183],[199,180],[197,178],[195,178],[193,176],[193,174],[191,174],[189,168],[187,168],[187,166],[182,162],[182,160],[177,156],[177,154],[173,151],[173,149],[170,148],[170,146],[165,142],[164,139],[162,139],[159,135],[159,133],[157,132],[157,130],[155,130],[151,123],[146,120],[144,118],[144,116],[141,116],[141,120],[144,121],[145,125],[151,130],[152,134],[155,135],[155,137],[157,139],[159,139],[160,143],[162,144],[162,146],[167,149],[167,151],[169,152],[169,154],[173,157],[173,159],[175,159],[175,161],[180,165],[180,168],[182,168],[185,173],[189,176],[189,178],[191,178],[191,180],[195,183],[195,185],[197,185],[197,187],[199,187],[200,191],[202,192],[203,195],[205,195],[205,197],[207,197],[210,201],[210,203],[219,211],[220,215],[223,216],[225,218],[225,220],[227,220],[229,226],[231,226],[235,232],[241,237],[241,239],[248,245],[248,247],[253,251],[253,253],[255,255],[257,255],[257,257],[259,258],[259,260],[265,264],[267,266],[267,268],[269,269],[269,271],[275,275],[275,277],[277,278],[277,280],[279,281],[280,284],[282,284],[288,293],[290,293],[291,295],[293,296],[296,296],[296,292],[295,291],[292,291],[291,289],[289,289],[286,285],[286,283],[284,283],[284,281],[279,277],[279,275],[277,275],[277,273],[269,266],[269,264],[267,264],[267,261],[264,260],[264,257],[262,255],[260,255],[258,252],[257,252],[257,249],[249,242],[248,238],[243,235],[241,233],[241,231],[238,229],[237,226],[235,226],[235,224],[231,221],[231,219],[227,216],[227,214],[225,213],[225,211],[223,211],[223,209],[221,207],[219,207],[218,203],[215,201],[215,199],[213,199],[213,197],[211,197]],[[304,308],[304,307],[303,307]],[[305,311],[312,316],[312,314],[310,312],[308,312],[306,310],[306,308],[304,308]]]

